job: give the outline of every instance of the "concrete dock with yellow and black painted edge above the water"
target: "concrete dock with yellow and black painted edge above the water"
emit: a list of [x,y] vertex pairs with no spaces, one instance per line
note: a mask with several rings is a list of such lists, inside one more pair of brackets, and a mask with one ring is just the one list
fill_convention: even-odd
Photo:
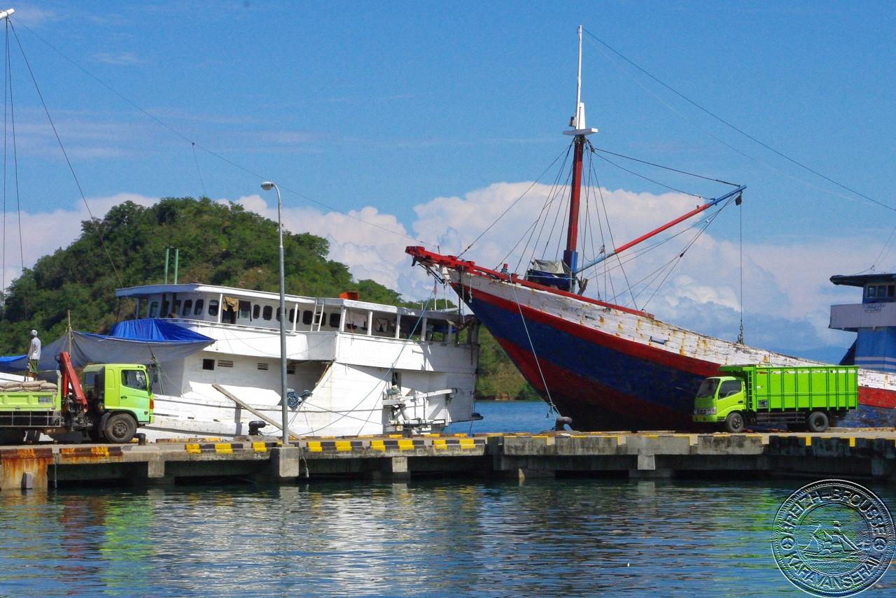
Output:
[[90,483],[296,483],[454,475],[805,475],[896,482],[896,431],[432,434],[0,447],[0,491]]

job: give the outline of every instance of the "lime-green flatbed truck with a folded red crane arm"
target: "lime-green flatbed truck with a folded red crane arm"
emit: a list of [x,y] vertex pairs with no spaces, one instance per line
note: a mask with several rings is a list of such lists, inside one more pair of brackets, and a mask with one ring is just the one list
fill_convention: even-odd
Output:
[[[152,423],[153,396],[146,367],[101,363],[83,370],[82,387],[67,353],[59,355],[56,384],[7,382],[0,388],[0,441],[83,431],[91,440],[130,442],[137,427]],[[11,384],[12,389],[10,389]]]

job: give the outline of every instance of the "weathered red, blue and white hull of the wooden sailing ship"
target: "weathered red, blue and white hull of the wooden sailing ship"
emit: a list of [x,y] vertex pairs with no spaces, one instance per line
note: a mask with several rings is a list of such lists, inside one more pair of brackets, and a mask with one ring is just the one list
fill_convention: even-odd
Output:
[[[495,289],[498,292],[488,292]],[[481,277],[463,278],[462,289],[455,284],[455,290],[460,290],[459,295],[526,380],[561,414],[571,416],[579,430],[693,428],[696,389],[700,380],[718,373],[719,364],[814,363],[702,337],[649,316],[649,321],[645,320],[642,316],[646,314],[633,316],[604,308],[598,318],[586,321],[582,316],[580,322],[571,321],[557,312],[563,309],[558,303],[581,302],[538,291],[551,295],[545,299],[530,289]],[[533,303],[542,300],[547,309],[525,304],[521,295],[534,299]],[[642,326],[650,328],[647,343],[634,340],[638,333],[633,329]],[[660,337],[660,333],[668,337]],[[694,338],[686,339],[688,335]],[[702,353],[696,357],[689,352]],[[896,382],[879,372],[864,372],[860,373],[860,385],[859,408],[838,425],[896,425]]]

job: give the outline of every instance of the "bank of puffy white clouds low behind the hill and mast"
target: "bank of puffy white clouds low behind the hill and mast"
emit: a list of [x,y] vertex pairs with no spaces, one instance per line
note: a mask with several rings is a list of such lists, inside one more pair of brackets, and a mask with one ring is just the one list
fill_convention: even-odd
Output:
[[[348,214],[287,207],[283,209],[283,222],[291,232],[310,232],[328,239],[331,245],[329,257],[347,264],[355,278],[372,278],[409,298],[423,299],[430,295],[433,281],[422,269],[410,268],[410,259],[404,250],[407,245],[416,243],[409,237],[434,239],[438,246],[428,249],[459,254],[497,220],[463,257],[486,267],[499,267],[502,261],[508,261],[511,269],[521,271],[532,255],[531,250],[523,252],[526,239],[530,237],[530,225],[550,201],[551,192],[547,185],[499,183],[462,197],[435,198],[415,206],[416,219],[411,223],[411,231],[394,215],[369,206]],[[523,193],[523,199],[498,219]],[[564,193],[564,189],[559,190],[560,199],[555,200],[555,205],[562,206],[560,201],[565,199]],[[593,242],[587,236],[583,239],[582,246],[588,248],[582,250],[586,257],[590,257],[592,245],[597,248],[601,243],[608,246],[625,243],[692,209],[696,203],[693,197],[679,193],[652,195],[607,189],[601,193],[616,243],[610,243],[605,225],[606,241],[599,237]],[[141,205],[157,201],[139,194],[121,193],[90,200],[90,206],[94,216],[101,218],[111,206],[125,200]],[[276,220],[277,206],[273,201],[269,204],[270,200],[269,196],[253,194],[240,197],[236,202],[245,209]],[[14,231],[15,217],[14,213],[7,214],[7,232]],[[73,203],[70,209],[48,213],[23,212],[25,266],[30,267],[39,256],[71,243],[81,233],[81,221],[87,218],[81,202]],[[557,247],[557,235],[565,234],[563,218],[561,215],[556,222],[548,219],[548,226],[541,232],[541,242],[544,243],[547,231],[553,226],[553,240],[547,243],[551,252]],[[593,212],[589,218],[593,220]],[[690,230],[639,256],[638,260],[625,261],[627,258],[624,257],[625,276],[618,261],[608,260],[609,277],[590,273],[592,280],[588,293],[625,304],[631,301],[628,282],[637,295],[639,308],[685,328],[733,339],[739,324],[741,252],[736,236],[730,234],[731,228],[728,216],[728,222],[719,220],[695,240],[696,231]],[[37,233],[47,230],[54,234]],[[673,232],[677,230],[680,228]],[[10,239],[13,236],[7,235]],[[538,230],[531,236],[538,237]],[[521,238],[523,242],[517,244]],[[692,241],[685,258],[677,261],[671,272],[663,269]],[[857,238],[827,239],[824,243],[745,243],[743,280],[747,342],[781,351],[848,344],[849,335],[827,329],[828,312],[831,303],[856,302],[857,291],[834,287],[828,278],[832,274],[861,269],[853,256],[861,255],[862,247],[862,240]],[[537,257],[541,257],[540,251]],[[18,245],[7,243],[4,264],[7,285],[19,275],[20,260]],[[519,268],[517,264],[521,264]],[[652,295],[663,278],[665,281],[659,292]],[[612,284],[608,284],[609,281]],[[651,283],[646,288],[645,281]]]

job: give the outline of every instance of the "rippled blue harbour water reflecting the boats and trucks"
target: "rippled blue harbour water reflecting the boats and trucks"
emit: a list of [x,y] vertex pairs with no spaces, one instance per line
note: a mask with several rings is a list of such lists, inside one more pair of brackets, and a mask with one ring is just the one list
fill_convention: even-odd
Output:
[[[770,547],[775,511],[804,483],[312,480],[5,496],[0,596],[806,595]],[[896,505],[894,489],[871,488]],[[894,576],[868,595],[896,594]]]

